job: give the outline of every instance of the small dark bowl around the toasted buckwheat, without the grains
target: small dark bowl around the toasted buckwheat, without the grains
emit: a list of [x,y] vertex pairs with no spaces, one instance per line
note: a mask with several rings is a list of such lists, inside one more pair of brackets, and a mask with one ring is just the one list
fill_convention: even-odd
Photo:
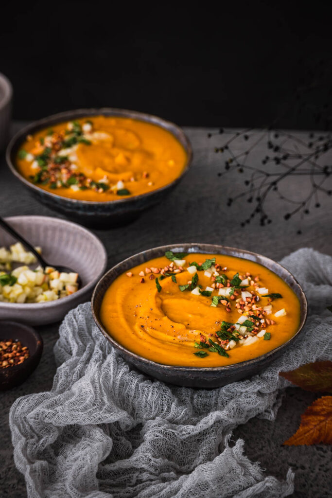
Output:
[[27,346],[30,356],[19,365],[6,369],[0,368],[0,391],[22,384],[37,367],[43,351],[43,340],[32,327],[1,320],[0,341],[8,339],[18,340],[22,346]]

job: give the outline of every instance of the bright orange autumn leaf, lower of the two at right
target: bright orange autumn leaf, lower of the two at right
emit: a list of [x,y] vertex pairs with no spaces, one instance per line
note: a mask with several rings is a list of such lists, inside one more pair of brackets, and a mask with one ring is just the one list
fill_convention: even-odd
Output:
[[284,442],[287,446],[332,444],[332,396],[316,399],[301,415],[296,433]]

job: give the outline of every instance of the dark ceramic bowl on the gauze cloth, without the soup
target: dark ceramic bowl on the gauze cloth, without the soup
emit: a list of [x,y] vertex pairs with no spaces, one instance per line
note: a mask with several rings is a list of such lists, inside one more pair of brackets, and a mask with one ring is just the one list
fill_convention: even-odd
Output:
[[[244,259],[255,261],[256,263],[262,264],[266,268],[274,271],[274,273],[279,275],[291,287],[291,289],[293,289],[300,300],[301,318],[297,333],[289,339],[289,341],[273,351],[266,353],[265,355],[254,358],[253,360],[248,360],[226,367],[204,368],[161,365],[159,363],[152,362],[151,360],[146,360],[145,358],[128,351],[108,334],[100,320],[100,309],[105,292],[118,275],[128,271],[128,269],[133,266],[148,261],[149,259],[164,255],[165,251],[169,249],[174,252],[228,254],[230,256],[242,257]],[[198,388],[219,387],[264,370],[268,367],[268,365],[270,365],[270,363],[282,354],[284,348],[289,347],[290,344],[293,344],[298,339],[307,318],[307,308],[307,299],[300,284],[293,277],[293,275],[286,270],[286,268],[281,266],[281,264],[269,259],[268,257],[262,256],[261,254],[256,254],[255,252],[224,246],[216,246],[212,244],[173,244],[171,246],[162,246],[135,254],[134,256],[125,259],[111,268],[98,282],[92,296],[92,314],[98,327],[106,339],[110,341],[111,345],[118,350],[120,355],[125,360],[142,372],[158,378],[159,380],[163,380],[164,382]]]

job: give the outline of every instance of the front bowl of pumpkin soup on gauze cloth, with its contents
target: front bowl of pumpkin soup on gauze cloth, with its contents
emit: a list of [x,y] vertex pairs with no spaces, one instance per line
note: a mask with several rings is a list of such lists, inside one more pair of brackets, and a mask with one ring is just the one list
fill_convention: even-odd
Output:
[[209,244],[149,249],[97,284],[94,319],[129,363],[213,388],[258,373],[299,337],[305,294],[279,263]]

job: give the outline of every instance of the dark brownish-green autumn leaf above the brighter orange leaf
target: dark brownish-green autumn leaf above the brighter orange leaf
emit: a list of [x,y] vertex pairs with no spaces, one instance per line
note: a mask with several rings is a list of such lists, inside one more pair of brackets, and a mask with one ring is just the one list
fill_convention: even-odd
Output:
[[306,391],[332,392],[332,362],[307,363],[292,372],[280,372],[279,375]]

